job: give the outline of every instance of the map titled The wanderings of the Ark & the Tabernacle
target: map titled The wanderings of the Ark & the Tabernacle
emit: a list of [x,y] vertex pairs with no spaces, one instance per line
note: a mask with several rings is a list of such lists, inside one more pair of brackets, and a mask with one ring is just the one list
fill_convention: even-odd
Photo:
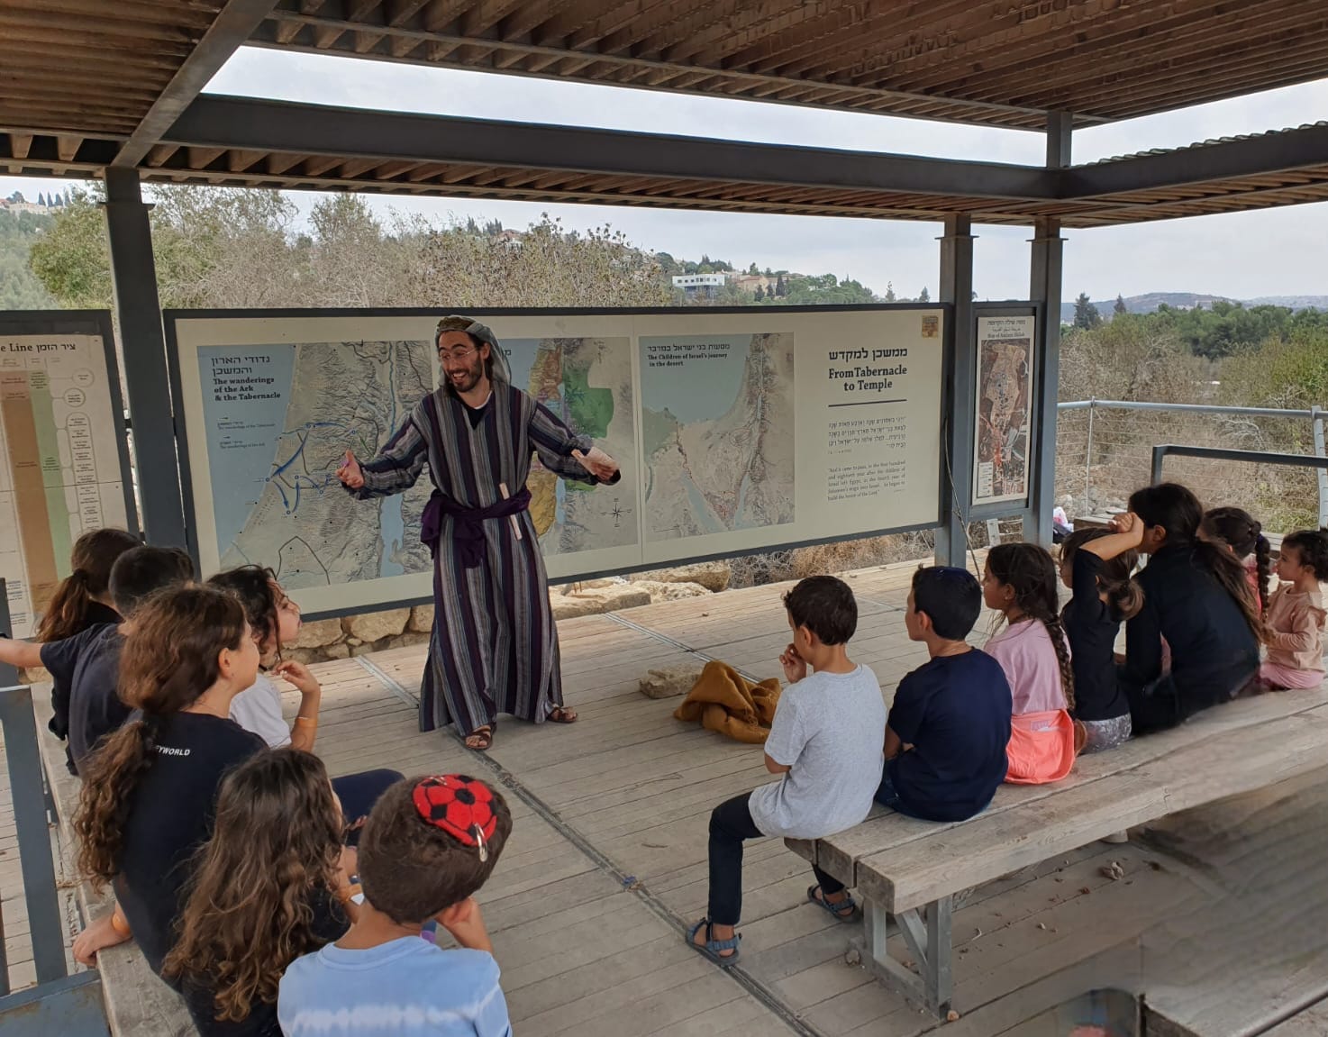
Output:
[[429,571],[428,475],[363,502],[336,477],[432,390],[428,343],[205,347],[198,362],[222,568],[271,566],[292,591]]

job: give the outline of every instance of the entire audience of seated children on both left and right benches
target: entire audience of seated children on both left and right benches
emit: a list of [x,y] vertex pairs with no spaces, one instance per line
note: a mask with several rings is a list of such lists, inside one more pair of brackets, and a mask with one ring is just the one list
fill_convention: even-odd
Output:
[[[737,960],[748,839],[825,838],[872,802],[964,821],[1003,782],[1057,781],[1080,753],[1244,692],[1317,685],[1328,532],[1283,540],[1275,591],[1270,556],[1244,513],[1204,514],[1161,485],[1113,528],[1068,536],[1058,566],[1020,543],[991,548],[980,583],[919,568],[904,625],[928,661],[888,714],[849,657],[851,590],[798,583],[785,598],[789,686],[765,745],[780,781],[712,813],[709,910],[692,945]],[[0,661],[50,672],[52,729],[84,779],[80,867],[116,891],[76,956],[135,939],[203,1034],[509,1034],[473,900],[511,831],[502,795],[457,774],[329,779],[312,752],[321,689],[282,657],[299,608],[271,571],[198,584],[183,552],[113,530],[80,538],[73,564],[39,643],[0,639]],[[1001,629],[977,649],[984,604]],[[300,694],[293,728],[272,677]],[[854,920],[843,883],[814,871],[809,902]],[[437,927],[459,949],[437,947]]]

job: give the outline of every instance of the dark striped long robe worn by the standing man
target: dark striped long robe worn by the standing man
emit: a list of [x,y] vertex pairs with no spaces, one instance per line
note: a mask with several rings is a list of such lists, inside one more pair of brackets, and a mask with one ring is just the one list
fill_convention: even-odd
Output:
[[[410,489],[428,463],[434,486],[467,509],[515,495],[526,485],[534,453],[566,479],[598,485],[571,457],[590,450],[547,408],[505,381],[477,428],[449,389],[426,396],[373,461],[360,466],[360,499]],[[530,513],[483,522],[482,564],[463,568],[445,515],[433,566],[433,632],[420,694],[420,730],[456,724],[462,734],[511,713],[542,724],[563,704],[558,632],[548,607],[544,559]]]

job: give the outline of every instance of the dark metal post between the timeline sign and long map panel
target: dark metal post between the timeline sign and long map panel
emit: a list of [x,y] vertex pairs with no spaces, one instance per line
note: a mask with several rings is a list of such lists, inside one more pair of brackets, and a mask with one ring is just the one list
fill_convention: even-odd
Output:
[[149,543],[185,547],[185,506],[147,211],[138,170],[108,169],[106,239],[129,386],[142,527]]

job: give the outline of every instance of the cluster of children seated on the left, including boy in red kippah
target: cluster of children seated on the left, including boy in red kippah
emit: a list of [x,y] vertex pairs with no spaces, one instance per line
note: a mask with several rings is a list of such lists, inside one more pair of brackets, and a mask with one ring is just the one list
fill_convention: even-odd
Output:
[[[37,643],[0,639],[0,661],[50,672],[80,870],[116,894],[74,956],[134,939],[202,1034],[510,1034],[471,899],[511,831],[502,795],[458,774],[329,779],[271,571],[199,584],[187,554],[117,530],[72,563]],[[272,677],[300,693],[293,728]]]

